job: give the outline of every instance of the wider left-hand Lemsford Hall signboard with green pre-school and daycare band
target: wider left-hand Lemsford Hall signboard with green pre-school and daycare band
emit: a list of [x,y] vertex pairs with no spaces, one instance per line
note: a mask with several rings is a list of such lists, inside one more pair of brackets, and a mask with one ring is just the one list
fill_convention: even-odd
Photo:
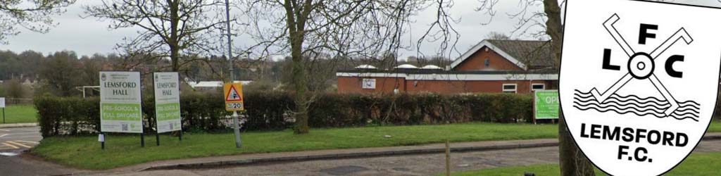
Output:
[[100,131],[143,133],[140,72],[100,72]]

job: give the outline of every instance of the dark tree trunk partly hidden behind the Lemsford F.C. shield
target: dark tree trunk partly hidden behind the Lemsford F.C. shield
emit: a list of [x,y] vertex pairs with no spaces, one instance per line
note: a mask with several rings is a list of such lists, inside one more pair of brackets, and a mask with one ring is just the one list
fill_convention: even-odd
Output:
[[[563,27],[561,24],[561,8],[557,0],[544,0],[544,12],[547,14],[546,33],[551,36],[551,48],[555,66],[560,70],[561,46],[563,41]],[[566,128],[563,112],[559,112],[558,123],[559,166],[563,176],[596,175],[593,164],[578,149],[570,131]]]

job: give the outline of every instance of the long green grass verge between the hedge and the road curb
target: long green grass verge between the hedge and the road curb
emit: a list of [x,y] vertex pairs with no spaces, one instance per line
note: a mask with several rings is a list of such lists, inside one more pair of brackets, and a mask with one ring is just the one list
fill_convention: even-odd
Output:
[[[306,135],[292,131],[242,133],[242,149],[236,149],[233,133],[186,134],[183,141],[167,134],[161,146],[155,136],[106,136],[106,149],[100,149],[97,136],[45,138],[32,154],[82,169],[102,170],[164,159],[211,157],[229,154],[349,149],[374,146],[407,146],[451,141],[497,141],[530,138],[556,138],[555,125],[465,123],[436,126],[383,126],[364,128],[311,129]],[[392,136],[385,138],[385,135]]]

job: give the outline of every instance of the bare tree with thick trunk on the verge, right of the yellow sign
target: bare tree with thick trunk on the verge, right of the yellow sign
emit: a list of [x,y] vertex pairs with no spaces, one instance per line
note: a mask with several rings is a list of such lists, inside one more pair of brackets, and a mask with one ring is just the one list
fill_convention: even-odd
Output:
[[408,47],[401,39],[409,18],[429,4],[437,4],[439,19],[423,38],[433,37],[447,46],[451,39],[444,37],[451,32],[443,27],[449,27],[452,20],[445,10],[452,4],[445,0],[244,1],[242,9],[249,24],[246,33],[257,42],[247,50],[261,58],[291,53],[294,132],[308,133],[307,113],[314,99],[309,92],[309,67],[323,59],[397,58],[399,48]]

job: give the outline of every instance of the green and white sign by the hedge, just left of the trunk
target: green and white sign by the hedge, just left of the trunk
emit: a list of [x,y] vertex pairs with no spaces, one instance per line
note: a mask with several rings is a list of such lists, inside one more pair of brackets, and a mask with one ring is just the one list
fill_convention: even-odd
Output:
[[558,119],[559,103],[557,90],[536,90],[534,92],[534,124],[537,119]]

